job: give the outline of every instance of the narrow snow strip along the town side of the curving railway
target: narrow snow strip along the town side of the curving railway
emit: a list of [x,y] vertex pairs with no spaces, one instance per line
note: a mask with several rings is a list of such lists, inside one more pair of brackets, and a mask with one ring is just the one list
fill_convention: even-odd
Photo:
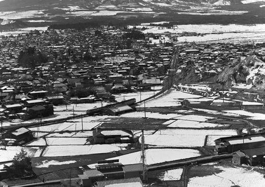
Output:
[[123,101],[123,100],[133,99],[133,98],[135,98],[136,102],[138,102],[138,101],[141,101],[143,99],[153,96],[157,92],[158,91],[134,92],[134,93],[127,93],[127,94],[121,93],[119,95],[114,95],[114,96],[115,96],[116,101],[118,102]]

